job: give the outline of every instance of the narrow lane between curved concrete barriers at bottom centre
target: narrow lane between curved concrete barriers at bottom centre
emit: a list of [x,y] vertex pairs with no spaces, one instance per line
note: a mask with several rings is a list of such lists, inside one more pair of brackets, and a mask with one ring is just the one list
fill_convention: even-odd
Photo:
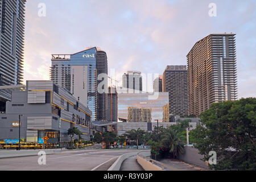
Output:
[[138,164],[137,155],[134,155],[123,161],[120,171],[144,171],[144,169]]

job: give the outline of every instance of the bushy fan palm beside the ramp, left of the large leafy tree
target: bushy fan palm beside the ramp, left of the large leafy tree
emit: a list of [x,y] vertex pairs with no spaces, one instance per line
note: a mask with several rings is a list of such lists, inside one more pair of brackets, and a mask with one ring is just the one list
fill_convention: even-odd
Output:
[[166,133],[163,134],[161,143],[164,147],[170,148],[170,153],[175,159],[178,154],[184,153],[184,136],[179,133],[176,129],[168,129]]

